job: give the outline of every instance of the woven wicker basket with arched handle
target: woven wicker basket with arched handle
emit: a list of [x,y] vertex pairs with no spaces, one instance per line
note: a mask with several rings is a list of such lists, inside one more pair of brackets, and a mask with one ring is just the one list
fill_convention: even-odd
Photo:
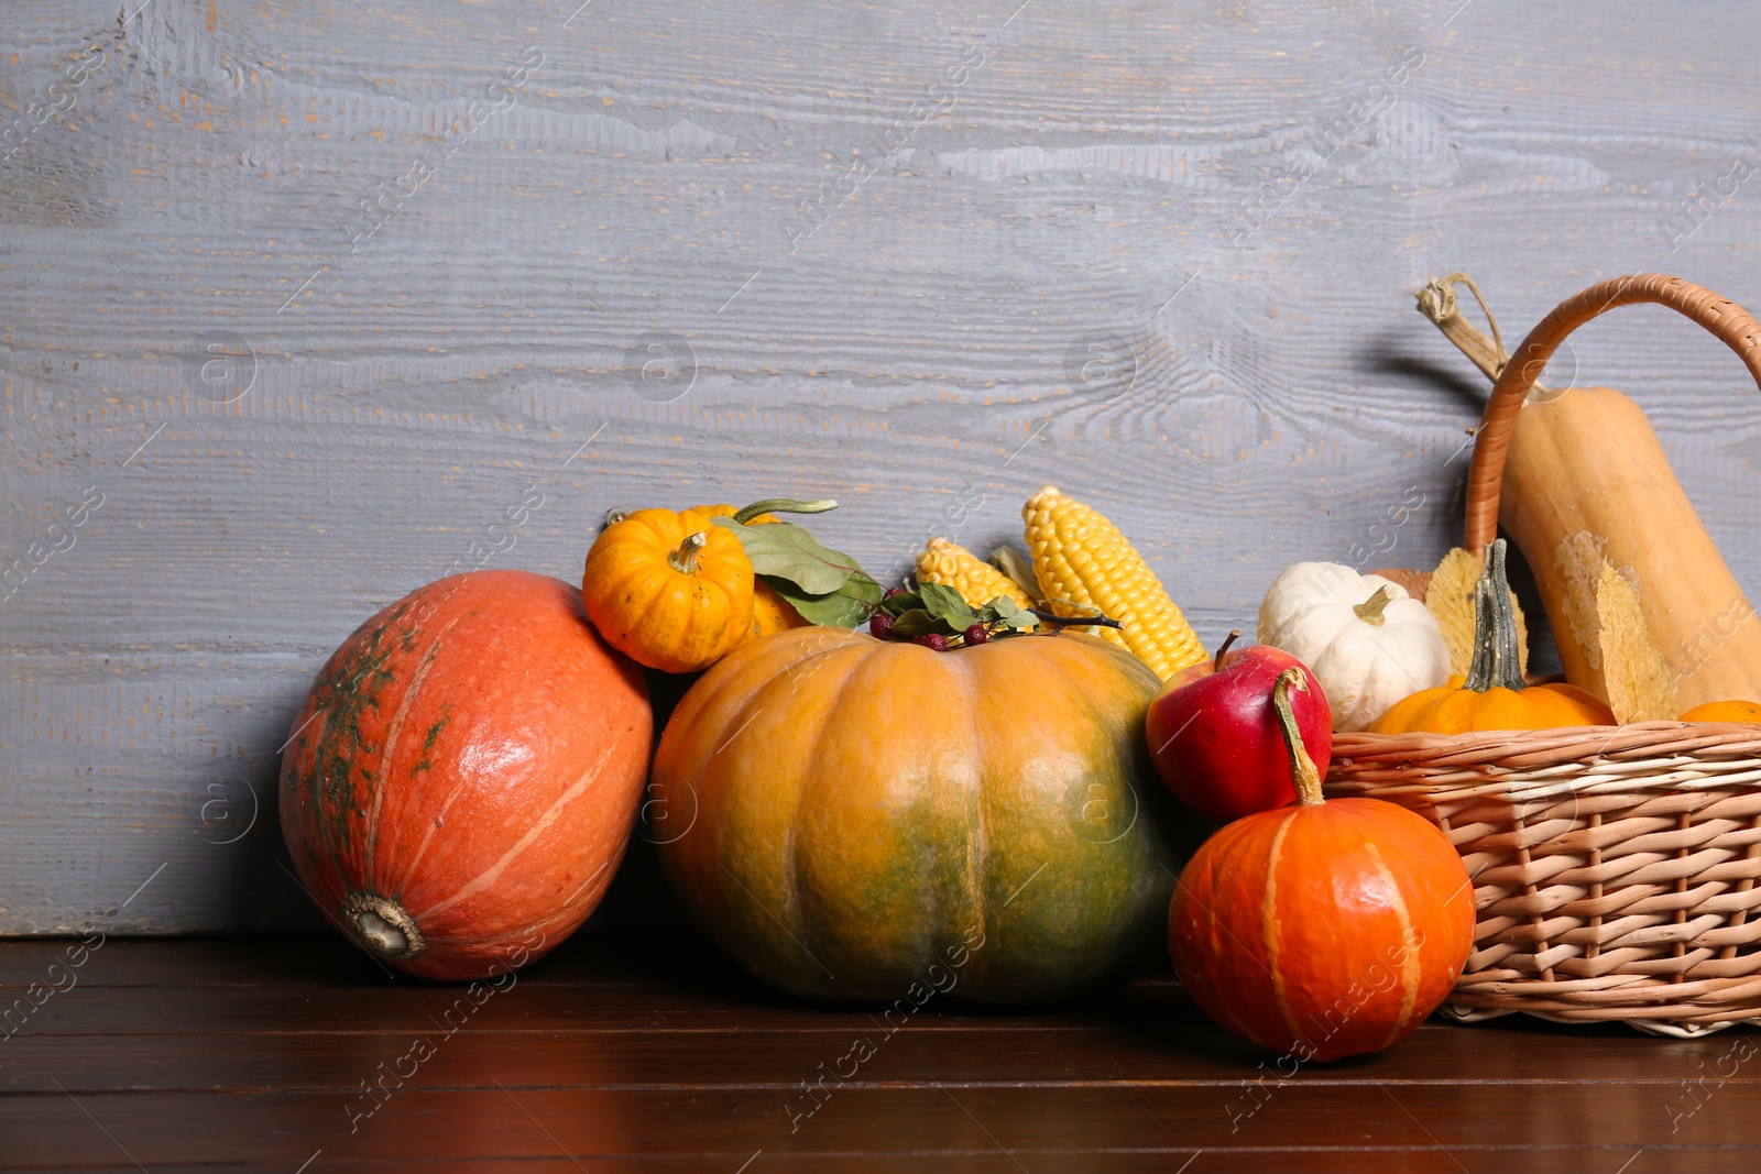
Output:
[[[1504,456],[1536,375],[1615,306],[1659,303],[1761,384],[1761,324],[1680,278],[1634,275],[1560,303],[1486,403],[1467,549],[1497,533]],[[1338,734],[1330,796],[1400,803],[1462,852],[1479,906],[1456,1019],[1527,1012],[1703,1035],[1761,1019],[1761,727],[1639,722],[1474,734]]]

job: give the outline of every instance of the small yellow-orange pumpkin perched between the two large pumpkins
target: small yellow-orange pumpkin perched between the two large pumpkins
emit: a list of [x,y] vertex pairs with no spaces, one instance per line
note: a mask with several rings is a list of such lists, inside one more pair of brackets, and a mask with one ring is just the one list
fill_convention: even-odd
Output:
[[664,672],[706,669],[752,630],[752,560],[697,510],[645,509],[586,553],[581,598],[606,641]]

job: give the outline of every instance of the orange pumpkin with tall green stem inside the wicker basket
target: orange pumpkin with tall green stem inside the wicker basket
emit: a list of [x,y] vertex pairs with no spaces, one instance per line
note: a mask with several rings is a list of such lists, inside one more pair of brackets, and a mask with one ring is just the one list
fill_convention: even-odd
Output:
[[1615,725],[1613,711],[1574,685],[1529,685],[1516,651],[1516,616],[1504,576],[1504,539],[1486,546],[1486,570],[1474,588],[1474,664],[1440,688],[1396,701],[1372,734],[1465,734],[1543,730],[1560,725]]

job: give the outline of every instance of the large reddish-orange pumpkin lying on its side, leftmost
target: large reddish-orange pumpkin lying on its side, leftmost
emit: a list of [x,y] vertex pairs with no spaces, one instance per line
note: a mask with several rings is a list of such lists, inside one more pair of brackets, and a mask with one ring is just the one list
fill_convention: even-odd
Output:
[[428,979],[512,970],[599,905],[653,718],[641,669],[567,583],[479,570],[363,623],[282,759],[299,884],[375,958]]

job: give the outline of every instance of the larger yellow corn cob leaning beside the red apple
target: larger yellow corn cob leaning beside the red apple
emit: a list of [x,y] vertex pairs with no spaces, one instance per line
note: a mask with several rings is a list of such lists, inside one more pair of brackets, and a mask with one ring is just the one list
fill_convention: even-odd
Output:
[[1046,486],[1021,507],[1034,577],[1060,616],[1099,609],[1124,628],[1090,628],[1132,651],[1164,681],[1206,658],[1180,607],[1125,535],[1081,502]]

